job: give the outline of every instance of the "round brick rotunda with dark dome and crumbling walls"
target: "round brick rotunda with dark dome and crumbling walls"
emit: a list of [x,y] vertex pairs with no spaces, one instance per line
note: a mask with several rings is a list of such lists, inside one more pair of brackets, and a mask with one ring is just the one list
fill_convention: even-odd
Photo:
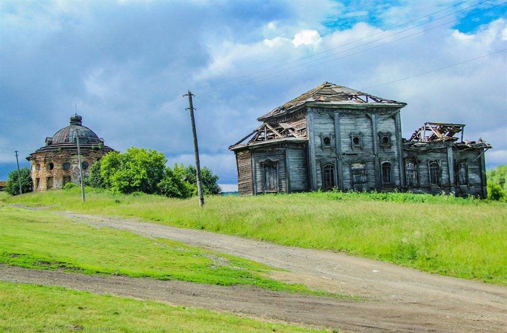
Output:
[[82,119],[79,115],[72,116],[69,126],[46,137],[46,145],[26,158],[31,162],[34,191],[61,189],[67,182],[80,183],[76,137],[79,137],[84,177],[93,163],[113,151],[104,145],[103,138],[82,125]]

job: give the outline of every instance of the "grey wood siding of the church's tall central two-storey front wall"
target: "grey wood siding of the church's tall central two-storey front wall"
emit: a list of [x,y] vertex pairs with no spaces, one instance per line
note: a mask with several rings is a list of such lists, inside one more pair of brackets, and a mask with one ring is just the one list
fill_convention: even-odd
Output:
[[[334,111],[334,112],[333,112]],[[310,110],[312,112],[312,110]],[[374,118],[374,119],[372,119]],[[312,135],[311,150],[315,156],[316,188],[323,187],[322,167],[325,164],[335,165],[336,186],[343,190],[353,188],[351,166],[363,163],[367,176],[368,190],[392,191],[401,187],[400,156],[398,128],[392,110],[388,112],[366,113],[343,109],[331,112],[314,112],[309,122]],[[389,144],[382,144],[379,134],[389,136]],[[353,144],[353,137],[361,137],[361,144]],[[331,144],[323,143],[323,138],[331,138]],[[338,145],[338,146],[337,146]],[[392,182],[382,181],[382,163],[391,163]]]

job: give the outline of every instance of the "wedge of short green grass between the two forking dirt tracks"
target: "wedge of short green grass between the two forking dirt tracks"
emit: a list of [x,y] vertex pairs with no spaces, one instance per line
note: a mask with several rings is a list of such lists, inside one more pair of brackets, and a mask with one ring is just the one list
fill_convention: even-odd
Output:
[[274,268],[229,254],[94,228],[45,211],[0,207],[0,263],[345,297],[267,277]]

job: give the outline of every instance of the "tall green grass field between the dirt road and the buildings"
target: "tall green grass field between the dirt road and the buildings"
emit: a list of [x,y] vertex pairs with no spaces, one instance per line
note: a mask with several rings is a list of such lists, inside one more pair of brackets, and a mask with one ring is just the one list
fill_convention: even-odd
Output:
[[284,245],[346,251],[428,272],[507,285],[507,204],[414,194],[305,193],[197,199],[79,189],[4,197],[96,214],[136,216]]

